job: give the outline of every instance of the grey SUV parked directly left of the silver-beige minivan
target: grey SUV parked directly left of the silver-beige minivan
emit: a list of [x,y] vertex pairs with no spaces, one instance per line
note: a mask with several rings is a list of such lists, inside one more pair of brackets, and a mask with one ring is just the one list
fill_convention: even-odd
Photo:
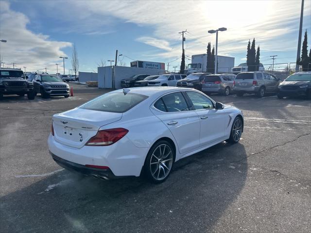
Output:
[[233,89],[234,74],[211,74],[202,81],[202,91],[230,95]]

